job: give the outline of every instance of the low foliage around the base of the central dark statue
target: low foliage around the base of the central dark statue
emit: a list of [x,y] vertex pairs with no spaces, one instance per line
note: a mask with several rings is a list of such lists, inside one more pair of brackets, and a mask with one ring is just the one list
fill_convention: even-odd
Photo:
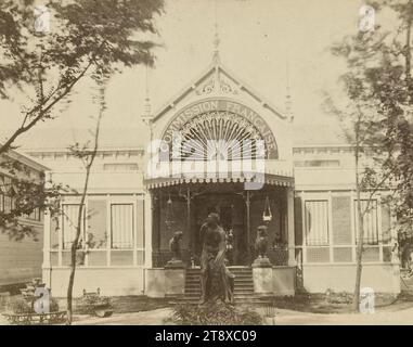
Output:
[[179,325],[260,325],[262,318],[248,308],[224,303],[205,306],[176,305],[170,322]]

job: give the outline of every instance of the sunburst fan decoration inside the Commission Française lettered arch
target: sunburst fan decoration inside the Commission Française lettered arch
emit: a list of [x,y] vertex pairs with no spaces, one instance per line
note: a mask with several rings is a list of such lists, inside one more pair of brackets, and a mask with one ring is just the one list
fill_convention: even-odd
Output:
[[240,160],[267,157],[258,129],[234,113],[204,113],[184,124],[180,133],[179,147],[172,156],[175,159]]

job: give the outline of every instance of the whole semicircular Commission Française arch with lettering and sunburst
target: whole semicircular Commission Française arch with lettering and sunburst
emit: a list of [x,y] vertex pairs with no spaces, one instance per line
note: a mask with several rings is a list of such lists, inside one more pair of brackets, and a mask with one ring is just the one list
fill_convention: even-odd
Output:
[[163,136],[172,159],[276,159],[275,138],[251,108],[227,99],[209,99],[182,110]]

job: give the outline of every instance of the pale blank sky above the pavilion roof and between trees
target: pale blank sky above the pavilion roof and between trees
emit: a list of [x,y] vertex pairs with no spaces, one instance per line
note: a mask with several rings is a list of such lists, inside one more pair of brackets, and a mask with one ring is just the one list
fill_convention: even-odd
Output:
[[[141,115],[146,85],[156,113],[199,76],[211,62],[216,18],[223,65],[280,110],[285,105],[288,75],[295,125],[320,129],[313,136],[323,142],[325,131],[317,125],[336,124],[334,116],[323,111],[323,93],[337,92],[338,77],[345,69],[344,62],[334,57],[330,48],[345,35],[357,33],[362,3],[361,0],[166,0],[165,13],[156,20],[159,36],[154,39],[159,47],[155,50],[155,67],[147,73],[147,83],[142,66],[125,69],[109,82],[102,146],[143,144],[147,129]],[[68,107],[55,108],[55,119],[37,126],[17,144],[24,149],[66,147],[75,141],[85,141],[91,116],[96,114],[91,101],[94,90],[85,80],[75,91]],[[26,100],[23,94],[12,101],[0,101],[2,138],[16,126]]]

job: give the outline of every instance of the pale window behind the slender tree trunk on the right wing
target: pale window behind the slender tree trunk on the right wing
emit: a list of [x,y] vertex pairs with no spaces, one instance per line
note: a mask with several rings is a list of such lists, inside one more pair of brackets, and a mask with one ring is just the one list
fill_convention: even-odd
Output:
[[[369,204],[367,200],[361,200],[361,213],[363,216],[364,228],[364,244],[378,244],[378,228],[377,228],[377,201],[372,200]],[[357,218],[357,200],[354,201],[354,222],[356,222],[356,241],[359,241],[359,220]]]

